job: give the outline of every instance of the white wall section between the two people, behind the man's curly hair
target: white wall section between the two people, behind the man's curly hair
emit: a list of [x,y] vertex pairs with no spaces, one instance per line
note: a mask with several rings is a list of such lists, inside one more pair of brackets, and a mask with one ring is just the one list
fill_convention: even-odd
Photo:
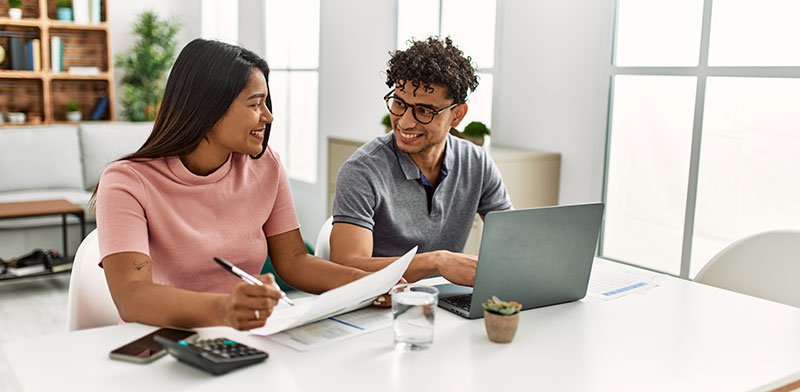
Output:
[[312,244],[328,218],[328,136],[369,140],[383,132],[381,98],[388,88],[382,72],[395,24],[393,1],[322,0],[320,6],[319,176],[316,184],[292,181],[303,238]]

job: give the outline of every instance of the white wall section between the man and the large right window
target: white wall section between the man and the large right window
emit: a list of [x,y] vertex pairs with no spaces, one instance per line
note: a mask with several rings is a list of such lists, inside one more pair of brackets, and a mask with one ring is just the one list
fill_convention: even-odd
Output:
[[602,197],[613,0],[500,0],[492,142],[560,152],[562,204]]

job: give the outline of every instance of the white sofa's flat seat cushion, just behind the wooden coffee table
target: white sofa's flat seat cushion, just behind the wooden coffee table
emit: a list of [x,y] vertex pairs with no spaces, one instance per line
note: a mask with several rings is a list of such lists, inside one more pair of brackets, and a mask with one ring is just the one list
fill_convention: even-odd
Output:
[[[87,204],[89,203],[89,197],[91,195],[92,192],[87,192],[82,189],[76,189],[76,188],[3,192],[0,193],[0,203],[65,199],[73,204],[83,207],[85,211],[86,221],[93,222],[94,214],[91,213],[87,208]],[[77,222],[77,219],[72,218],[67,220],[67,222],[73,222],[73,221]],[[0,219],[0,230],[18,229],[22,227],[60,225],[60,224],[61,224],[61,217],[57,215],[42,216],[35,218]]]

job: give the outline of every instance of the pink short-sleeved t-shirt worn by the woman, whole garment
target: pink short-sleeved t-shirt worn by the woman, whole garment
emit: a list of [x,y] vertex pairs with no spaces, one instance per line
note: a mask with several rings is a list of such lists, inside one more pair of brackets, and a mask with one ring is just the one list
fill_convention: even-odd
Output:
[[208,176],[170,157],[114,162],[100,177],[101,260],[144,253],[155,283],[229,293],[242,281],[213,257],[258,274],[266,238],[299,227],[286,171],[272,149],[258,160],[231,154]]

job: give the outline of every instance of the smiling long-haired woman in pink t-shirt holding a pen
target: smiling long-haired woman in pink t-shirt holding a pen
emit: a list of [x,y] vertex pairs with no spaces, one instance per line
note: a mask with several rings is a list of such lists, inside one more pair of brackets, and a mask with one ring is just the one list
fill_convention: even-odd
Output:
[[367,273],[309,255],[286,172],[267,146],[269,68],[255,53],[196,39],[181,51],[153,131],[110,164],[96,190],[101,266],[123,320],[265,324],[280,292],[243,283],[267,255],[290,285],[323,292]]

